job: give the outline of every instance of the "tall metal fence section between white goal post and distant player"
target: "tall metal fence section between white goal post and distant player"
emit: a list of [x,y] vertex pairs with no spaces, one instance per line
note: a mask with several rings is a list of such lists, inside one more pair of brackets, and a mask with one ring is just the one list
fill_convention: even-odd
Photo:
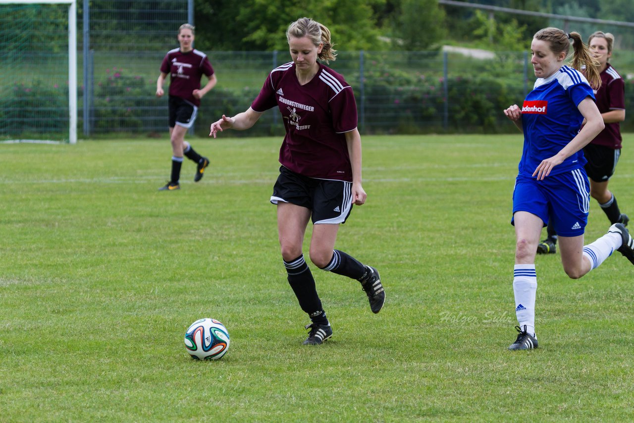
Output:
[[165,107],[148,99],[159,66],[150,63],[172,48],[181,24],[193,23],[193,0],[82,0],[79,22],[84,135],[158,129]]

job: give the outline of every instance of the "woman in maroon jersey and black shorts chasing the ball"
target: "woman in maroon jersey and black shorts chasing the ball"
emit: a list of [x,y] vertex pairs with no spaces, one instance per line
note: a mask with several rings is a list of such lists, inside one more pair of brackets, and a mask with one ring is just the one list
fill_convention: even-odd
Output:
[[361,282],[370,308],[378,313],[385,291],[378,271],[335,250],[339,225],[352,205],[362,205],[361,136],[353,89],[342,75],[318,62],[335,60],[330,31],[301,18],[287,33],[292,62],[271,71],[251,107],[214,122],[210,136],[224,129],[249,129],[269,108],[278,107],[286,135],[280,148],[280,176],[271,203],[277,205],[281,256],[288,283],[311,318],[304,344],[321,344],[332,328],[321,306],[311,270],[302,254],[309,219],[313,221],[310,259],[320,269]]

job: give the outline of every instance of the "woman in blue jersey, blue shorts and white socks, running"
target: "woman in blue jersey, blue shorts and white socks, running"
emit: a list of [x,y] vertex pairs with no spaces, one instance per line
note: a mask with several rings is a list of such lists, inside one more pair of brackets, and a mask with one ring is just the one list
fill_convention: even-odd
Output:
[[[564,64],[573,41],[572,66]],[[539,30],[531,42],[537,77],[522,107],[504,110],[524,133],[524,150],[513,193],[515,268],[513,290],[519,326],[508,349],[537,348],[535,255],[541,228],[552,219],[566,274],[577,279],[617,250],[634,264],[634,240],[621,223],[584,246],[590,187],[581,149],[604,129],[592,86],[600,86],[596,60],[577,32]],[[579,72],[585,65],[586,77]],[[588,80],[590,82],[588,82]],[[586,124],[581,127],[583,120]]]

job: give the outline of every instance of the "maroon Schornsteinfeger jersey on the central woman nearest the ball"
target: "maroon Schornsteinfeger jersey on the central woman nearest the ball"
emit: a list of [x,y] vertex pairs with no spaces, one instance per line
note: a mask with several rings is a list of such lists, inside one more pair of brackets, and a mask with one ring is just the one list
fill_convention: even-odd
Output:
[[319,63],[305,85],[295,63],[271,71],[251,104],[256,112],[277,106],[286,128],[280,163],[304,176],[352,182],[346,134],[357,127],[354,93],[342,75]]

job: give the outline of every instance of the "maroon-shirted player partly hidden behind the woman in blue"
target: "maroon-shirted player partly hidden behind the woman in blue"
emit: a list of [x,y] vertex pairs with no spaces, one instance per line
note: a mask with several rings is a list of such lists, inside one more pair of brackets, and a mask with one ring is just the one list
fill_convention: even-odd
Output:
[[[598,111],[601,112],[605,129],[590,144],[583,147],[588,160],[586,172],[590,178],[590,195],[598,201],[611,223],[628,226],[630,218],[621,213],[614,193],[607,189],[607,183],[616,170],[621,157],[621,127],[625,120],[625,81],[609,63],[612,57],[614,36],[609,32],[597,31],[588,38],[588,45],[597,58],[597,70],[601,86],[595,91]],[[557,233],[552,223],[548,223],[548,238],[537,246],[539,254],[553,254],[557,251]]]

